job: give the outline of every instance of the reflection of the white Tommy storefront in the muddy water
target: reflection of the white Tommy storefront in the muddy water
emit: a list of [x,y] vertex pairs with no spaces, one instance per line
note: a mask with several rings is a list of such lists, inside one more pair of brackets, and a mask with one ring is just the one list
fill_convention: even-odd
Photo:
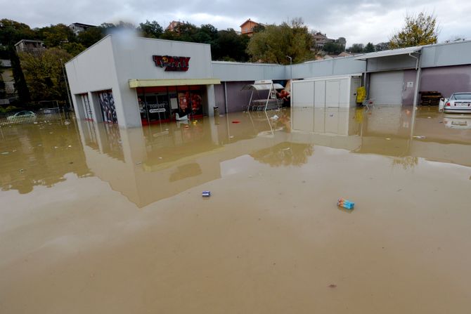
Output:
[[265,113],[136,129],[79,123],[86,164],[138,207],[221,178],[221,162],[285,142],[281,129]]

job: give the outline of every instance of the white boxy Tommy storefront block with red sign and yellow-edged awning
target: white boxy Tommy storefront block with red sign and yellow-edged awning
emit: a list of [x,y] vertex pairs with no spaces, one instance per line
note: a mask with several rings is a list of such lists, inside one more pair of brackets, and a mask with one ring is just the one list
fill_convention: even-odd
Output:
[[79,119],[134,127],[212,115],[211,49],[110,35],[65,65]]

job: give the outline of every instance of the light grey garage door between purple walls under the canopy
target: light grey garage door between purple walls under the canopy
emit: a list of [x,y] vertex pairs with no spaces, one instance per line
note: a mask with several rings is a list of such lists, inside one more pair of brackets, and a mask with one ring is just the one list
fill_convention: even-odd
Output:
[[380,72],[370,74],[370,99],[376,105],[402,105],[404,72]]

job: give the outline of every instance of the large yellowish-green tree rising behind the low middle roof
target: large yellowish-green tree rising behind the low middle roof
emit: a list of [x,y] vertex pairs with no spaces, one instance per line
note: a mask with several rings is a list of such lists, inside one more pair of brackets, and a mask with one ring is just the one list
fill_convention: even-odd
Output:
[[294,19],[291,25],[267,25],[265,30],[253,34],[247,52],[253,61],[263,63],[301,63],[314,57],[311,52],[312,37],[301,19]]

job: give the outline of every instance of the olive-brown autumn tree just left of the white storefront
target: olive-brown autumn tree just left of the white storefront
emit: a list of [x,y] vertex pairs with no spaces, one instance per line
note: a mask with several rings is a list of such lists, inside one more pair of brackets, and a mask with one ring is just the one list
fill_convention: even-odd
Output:
[[65,100],[67,91],[63,63],[72,55],[60,48],[49,48],[39,54],[20,53],[21,67],[32,100]]

